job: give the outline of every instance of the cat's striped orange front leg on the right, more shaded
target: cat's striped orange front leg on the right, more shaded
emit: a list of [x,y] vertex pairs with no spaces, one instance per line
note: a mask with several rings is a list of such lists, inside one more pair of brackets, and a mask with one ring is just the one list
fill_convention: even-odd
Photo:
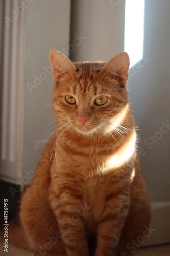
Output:
[[114,256],[129,209],[129,193],[108,194],[97,229],[95,256]]

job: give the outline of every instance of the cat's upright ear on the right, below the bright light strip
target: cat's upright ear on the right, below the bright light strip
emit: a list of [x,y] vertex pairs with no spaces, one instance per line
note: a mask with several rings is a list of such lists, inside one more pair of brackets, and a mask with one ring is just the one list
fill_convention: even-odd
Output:
[[120,52],[108,61],[102,70],[117,76],[121,86],[125,86],[128,79],[129,55],[126,52]]

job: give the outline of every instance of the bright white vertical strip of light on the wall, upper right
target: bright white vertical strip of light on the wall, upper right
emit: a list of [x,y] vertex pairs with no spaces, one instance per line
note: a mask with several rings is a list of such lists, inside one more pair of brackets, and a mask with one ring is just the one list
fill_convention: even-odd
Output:
[[130,56],[130,67],[143,58],[144,0],[125,2],[124,50]]

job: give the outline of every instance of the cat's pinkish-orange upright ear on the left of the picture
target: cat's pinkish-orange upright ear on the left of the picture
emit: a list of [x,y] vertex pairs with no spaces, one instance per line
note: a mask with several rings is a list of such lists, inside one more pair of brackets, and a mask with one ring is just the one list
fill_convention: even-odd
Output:
[[66,73],[73,73],[76,67],[64,54],[56,50],[50,51],[50,62],[53,69],[53,79],[57,83]]

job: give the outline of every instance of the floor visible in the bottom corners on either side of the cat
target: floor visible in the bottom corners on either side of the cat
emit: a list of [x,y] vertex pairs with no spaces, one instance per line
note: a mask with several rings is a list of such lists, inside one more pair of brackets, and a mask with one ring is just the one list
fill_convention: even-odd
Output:
[[[30,251],[20,249],[12,244],[8,244],[8,253],[4,252],[3,249],[2,241],[0,242],[1,256],[33,256]],[[45,254],[43,253],[43,255]],[[140,249],[136,251],[133,256],[170,256],[170,245]]]

